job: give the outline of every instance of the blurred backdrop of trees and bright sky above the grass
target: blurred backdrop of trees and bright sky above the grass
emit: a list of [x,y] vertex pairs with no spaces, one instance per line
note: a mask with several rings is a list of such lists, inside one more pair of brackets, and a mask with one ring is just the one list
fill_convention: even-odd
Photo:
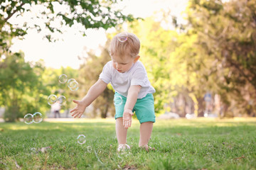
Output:
[[[3,0],[0,4],[0,118],[54,118],[48,96],[65,96],[60,118],[110,61],[110,40],[141,41],[158,118],[255,117],[255,0]],[[61,74],[78,81],[71,91]],[[110,84],[85,118],[114,116]]]

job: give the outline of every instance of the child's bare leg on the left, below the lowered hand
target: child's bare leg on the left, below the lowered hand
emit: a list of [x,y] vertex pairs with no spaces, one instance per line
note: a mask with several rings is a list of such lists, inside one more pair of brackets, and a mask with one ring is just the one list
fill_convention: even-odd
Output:
[[119,145],[127,142],[127,129],[124,128],[122,118],[117,118],[116,120],[116,134]]

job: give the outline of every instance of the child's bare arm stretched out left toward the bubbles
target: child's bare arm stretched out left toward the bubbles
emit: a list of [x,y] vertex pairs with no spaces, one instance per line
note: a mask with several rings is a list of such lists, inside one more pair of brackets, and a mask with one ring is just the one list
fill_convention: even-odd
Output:
[[102,81],[102,79],[98,79],[98,81],[90,87],[86,96],[82,98],[81,101],[73,100],[74,103],[77,103],[77,106],[70,111],[70,113],[73,113],[72,116],[74,116],[74,118],[80,118],[85,112],[85,108],[89,106],[92,101],[95,101],[97,96],[100,96],[106,87],[107,84]]

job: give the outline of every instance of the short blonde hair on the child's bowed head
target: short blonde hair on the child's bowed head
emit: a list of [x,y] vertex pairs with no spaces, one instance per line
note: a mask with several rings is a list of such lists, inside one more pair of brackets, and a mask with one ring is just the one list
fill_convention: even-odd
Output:
[[[119,40],[119,38],[124,40]],[[139,55],[140,42],[139,38],[133,33],[119,33],[114,36],[110,43],[110,55],[124,57],[124,55],[131,55],[137,57]]]

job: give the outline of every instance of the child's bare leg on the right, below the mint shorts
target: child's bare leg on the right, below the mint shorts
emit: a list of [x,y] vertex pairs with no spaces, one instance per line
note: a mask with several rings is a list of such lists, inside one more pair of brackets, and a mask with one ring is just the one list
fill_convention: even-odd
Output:
[[140,125],[139,147],[147,145],[153,130],[153,122],[145,122]]

